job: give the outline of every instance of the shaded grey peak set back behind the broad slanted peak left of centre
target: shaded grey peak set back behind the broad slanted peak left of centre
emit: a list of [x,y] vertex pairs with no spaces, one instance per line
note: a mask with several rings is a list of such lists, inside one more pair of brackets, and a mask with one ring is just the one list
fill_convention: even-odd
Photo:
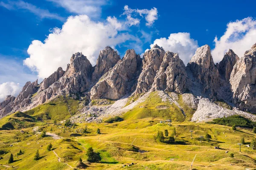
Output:
[[107,46],[104,50],[100,51],[92,75],[92,81],[98,81],[99,78],[116,65],[119,60],[120,56],[117,54],[117,51],[114,51],[110,46]]

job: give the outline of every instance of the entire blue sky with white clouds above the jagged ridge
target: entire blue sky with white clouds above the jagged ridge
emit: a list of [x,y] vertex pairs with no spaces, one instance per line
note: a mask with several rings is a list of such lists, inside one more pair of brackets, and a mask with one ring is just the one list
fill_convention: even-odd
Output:
[[185,65],[205,44],[215,62],[229,48],[241,57],[256,42],[255,6],[252,0],[0,0],[0,101],[26,81],[65,69],[75,52],[95,64],[106,45],[122,57],[157,43]]

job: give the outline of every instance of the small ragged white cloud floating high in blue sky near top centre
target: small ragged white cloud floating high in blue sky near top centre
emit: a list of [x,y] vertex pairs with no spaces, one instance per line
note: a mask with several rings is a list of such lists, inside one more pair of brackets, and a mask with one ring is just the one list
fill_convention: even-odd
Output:
[[149,9],[132,9],[127,5],[124,7],[122,15],[126,15],[126,24],[128,26],[136,26],[140,24],[140,19],[137,18],[137,14],[140,17],[145,17],[146,26],[152,26],[154,21],[158,19],[157,8]]

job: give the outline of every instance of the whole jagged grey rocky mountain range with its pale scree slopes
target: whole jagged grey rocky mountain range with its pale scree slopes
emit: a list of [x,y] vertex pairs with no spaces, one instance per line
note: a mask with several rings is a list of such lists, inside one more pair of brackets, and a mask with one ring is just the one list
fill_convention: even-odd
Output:
[[[177,53],[158,45],[146,51],[143,58],[134,50],[127,50],[122,59],[107,46],[100,51],[94,67],[78,52],[72,55],[66,71],[58,68],[39,85],[38,81],[27,82],[16,98],[6,96],[0,103],[0,117],[27,111],[58,96],[89,101],[76,119],[84,114],[114,115],[131,110],[151,92],[158,91],[163,101],[176,105],[185,117],[187,108],[194,110],[193,121],[233,114],[256,119],[243,112],[256,113],[255,84],[256,45],[240,59],[229,50],[216,65],[209,45],[204,45],[187,66]],[[90,103],[93,100],[111,100],[114,104],[105,102],[108,106],[96,107]],[[218,101],[226,102],[233,110],[217,105]]]

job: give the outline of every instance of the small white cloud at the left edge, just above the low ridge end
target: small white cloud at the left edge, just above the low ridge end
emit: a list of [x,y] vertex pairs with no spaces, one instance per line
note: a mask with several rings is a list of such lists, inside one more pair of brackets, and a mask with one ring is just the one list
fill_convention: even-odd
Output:
[[3,102],[7,95],[17,96],[20,90],[21,87],[19,83],[4,82],[0,84],[0,102]]

